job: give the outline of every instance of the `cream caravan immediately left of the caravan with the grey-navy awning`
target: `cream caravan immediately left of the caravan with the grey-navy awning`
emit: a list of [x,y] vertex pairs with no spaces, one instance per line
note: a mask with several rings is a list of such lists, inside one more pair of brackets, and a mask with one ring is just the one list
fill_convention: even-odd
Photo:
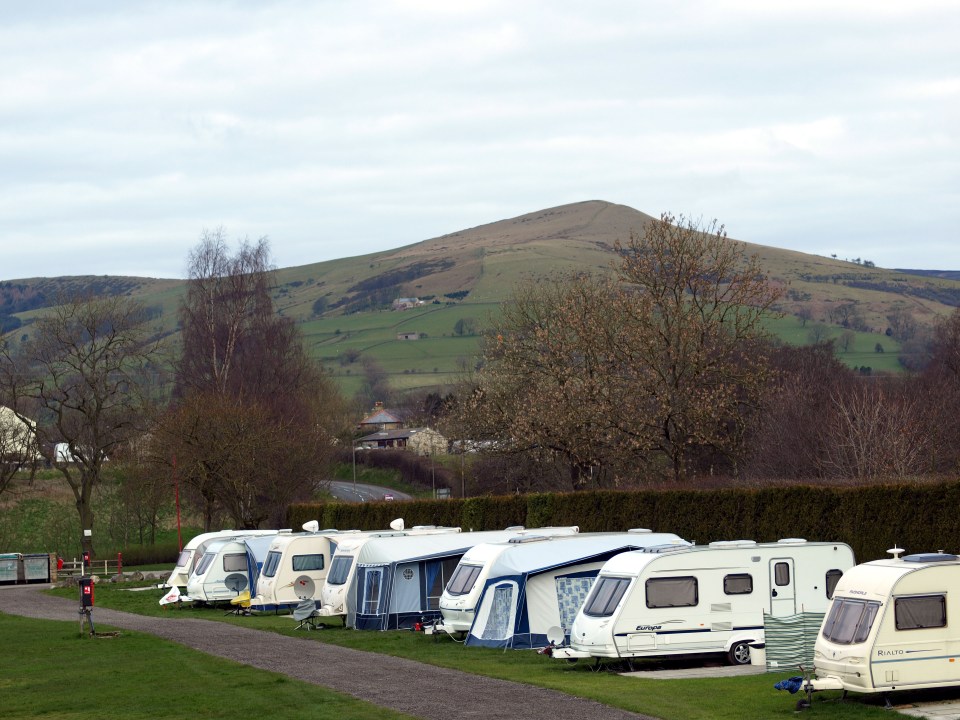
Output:
[[314,598],[323,587],[330,561],[344,541],[371,535],[426,535],[460,532],[460,528],[416,525],[404,530],[403,518],[390,523],[393,530],[319,530],[312,520],[307,532],[278,535],[267,551],[263,569],[251,593],[254,610],[293,608],[305,598]]

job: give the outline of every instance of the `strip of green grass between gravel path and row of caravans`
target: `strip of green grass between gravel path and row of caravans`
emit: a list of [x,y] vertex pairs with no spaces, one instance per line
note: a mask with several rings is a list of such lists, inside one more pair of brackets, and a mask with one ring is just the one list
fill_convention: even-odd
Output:
[[[75,590],[52,592],[63,597],[76,597]],[[190,605],[181,608],[161,607],[157,603],[160,595],[160,590],[155,593],[134,593],[123,590],[122,586],[100,585],[97,587],[97,605],[151,616],[175,614],[179,617],[233,622],[317,642],[396,655],[440,667],[551,688],[664,720],[743,720],[795,715],[797,696],[773,688],[776,681],[794,674],[789,671],[782,675],[689,680],[624,677],[612,671],[596,672],[593,664],[588,662],[570,664],[532,651],[468,648],[446,636],[431,637],[409,631],[358,632],[331,624],[323,631],[298,633],[288,617],[273,614],[225,617],[222,610],[218,609],[194,608]],[[835,702],[837,697],[838,693],[821,693],[815,696],[813,708],[806,712],[811,717],[829,716],[831,720],[889,718],[889,713],[884,715],[878,697],[858,697],[845,703]],[[157,707],[158,712],[162,710],[163,706]]]

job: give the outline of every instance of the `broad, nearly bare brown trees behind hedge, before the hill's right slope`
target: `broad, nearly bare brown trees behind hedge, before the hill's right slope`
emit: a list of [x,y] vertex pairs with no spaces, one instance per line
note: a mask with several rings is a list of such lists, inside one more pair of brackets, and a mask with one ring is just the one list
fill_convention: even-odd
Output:
[[459,412],[498,452],[565,458],[575,486],[664,464],[684,481],[694,458],[735,467],[779,291],[715,223],[664,215],[617,250],[612,279],[517,288]]

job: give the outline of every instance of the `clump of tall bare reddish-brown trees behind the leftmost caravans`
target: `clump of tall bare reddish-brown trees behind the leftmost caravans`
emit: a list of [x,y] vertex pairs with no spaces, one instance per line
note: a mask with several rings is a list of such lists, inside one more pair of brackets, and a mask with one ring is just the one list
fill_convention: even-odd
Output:
[[238,527],[282,522],[326,479],[345,434],[339,392],[298,326],[275,313],[272,282],[266,238],[232,254],[218,230],[190,254],[177,400],[151,454],[171,472],[176,458],[206,528],[220,513]]

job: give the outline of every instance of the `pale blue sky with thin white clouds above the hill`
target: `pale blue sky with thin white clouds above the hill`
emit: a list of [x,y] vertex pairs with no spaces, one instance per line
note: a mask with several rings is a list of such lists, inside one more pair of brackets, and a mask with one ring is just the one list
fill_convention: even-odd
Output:
[[4,3],[0,280],[584,200],[960,270],[956,0]]

